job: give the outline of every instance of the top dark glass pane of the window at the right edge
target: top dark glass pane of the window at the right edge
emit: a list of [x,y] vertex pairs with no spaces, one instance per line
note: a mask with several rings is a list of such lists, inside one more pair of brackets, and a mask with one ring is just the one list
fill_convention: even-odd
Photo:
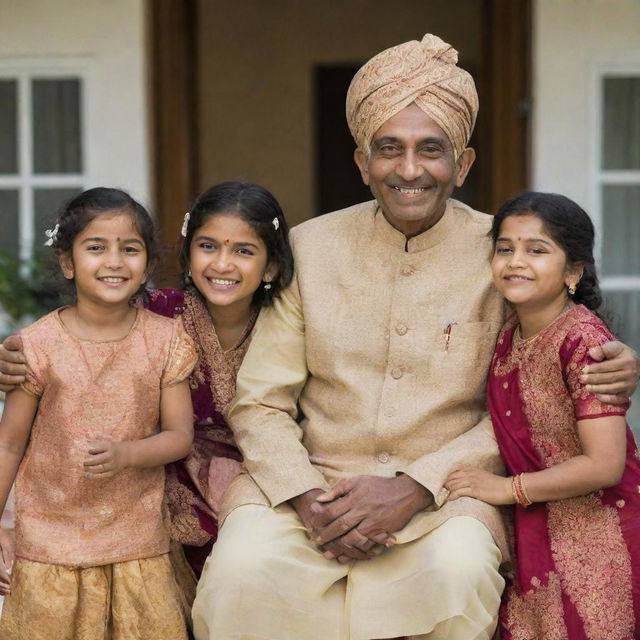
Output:
[[603,169],[640,169],[640,77],[604,79]]

